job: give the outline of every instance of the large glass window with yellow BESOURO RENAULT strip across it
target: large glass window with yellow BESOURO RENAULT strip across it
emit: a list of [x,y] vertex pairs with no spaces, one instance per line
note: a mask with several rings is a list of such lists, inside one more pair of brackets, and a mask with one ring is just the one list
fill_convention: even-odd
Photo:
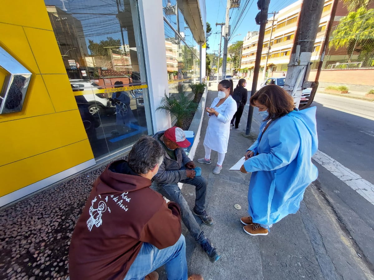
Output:
[[137,1],[45,4],[95,158],[151,134]]

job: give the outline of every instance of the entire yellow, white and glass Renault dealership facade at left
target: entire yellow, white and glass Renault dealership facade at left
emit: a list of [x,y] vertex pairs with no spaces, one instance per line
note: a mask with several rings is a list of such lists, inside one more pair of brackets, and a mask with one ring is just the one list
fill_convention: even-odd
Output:
[[162,97],[205,73],[204,0],[20,0],[0,15],[0,206],[170,127]]

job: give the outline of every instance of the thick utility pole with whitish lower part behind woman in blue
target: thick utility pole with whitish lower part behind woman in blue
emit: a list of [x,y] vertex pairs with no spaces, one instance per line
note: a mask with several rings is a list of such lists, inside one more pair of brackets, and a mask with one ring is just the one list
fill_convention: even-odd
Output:
[[324,3],[324,0],[304,0],[301,4],[294,46],[283,87],[294,98],[296,108],[303,94],[304,80],[309,75],[310,59]]

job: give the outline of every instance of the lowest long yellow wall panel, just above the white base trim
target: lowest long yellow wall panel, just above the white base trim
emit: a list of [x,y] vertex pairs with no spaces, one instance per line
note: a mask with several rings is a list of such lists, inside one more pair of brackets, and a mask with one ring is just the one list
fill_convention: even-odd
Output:
[[0,168],[0,196],[93,158],[88,140],[13,162]]

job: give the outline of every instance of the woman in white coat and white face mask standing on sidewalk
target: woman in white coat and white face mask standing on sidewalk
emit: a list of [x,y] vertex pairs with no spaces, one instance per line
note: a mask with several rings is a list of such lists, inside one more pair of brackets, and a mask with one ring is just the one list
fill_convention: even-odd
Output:
[[205,158],[200,158],[197,162],[211,164],[211,152],[212,150],[217,151],[218,161],[217,166],[213,170],[214,174],[221,172],[229,144],[230,121],[237,109],[232,93],[233,81],[222,80],[218,84],[218,97],[213,100],[211,108],[206,108],[209,121],[204,139]]

